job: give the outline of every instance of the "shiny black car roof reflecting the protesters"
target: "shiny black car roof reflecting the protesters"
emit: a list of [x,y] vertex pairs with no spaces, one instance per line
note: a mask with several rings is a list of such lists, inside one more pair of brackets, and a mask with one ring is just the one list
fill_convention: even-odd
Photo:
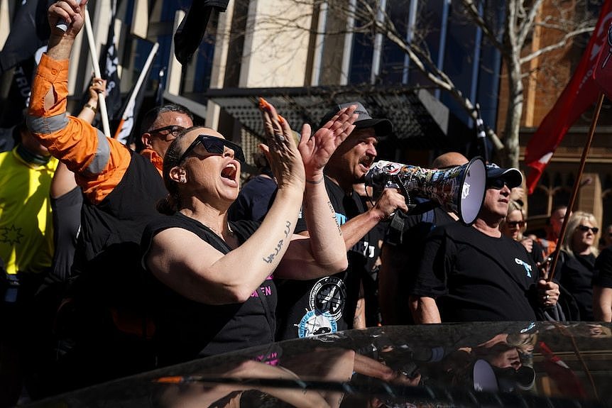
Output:
[[612,325],[383,326],[272,343],[31,407],[612,407]]

